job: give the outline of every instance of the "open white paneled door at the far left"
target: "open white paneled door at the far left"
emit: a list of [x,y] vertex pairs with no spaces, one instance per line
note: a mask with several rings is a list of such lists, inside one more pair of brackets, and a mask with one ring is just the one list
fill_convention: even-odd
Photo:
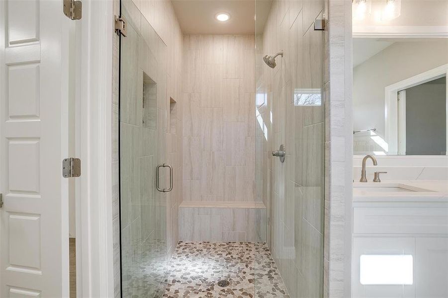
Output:
[[[68,42],[62,0],[0,1],[0,297],[68,297]],[[73,179],[73,178],[72,178]]]

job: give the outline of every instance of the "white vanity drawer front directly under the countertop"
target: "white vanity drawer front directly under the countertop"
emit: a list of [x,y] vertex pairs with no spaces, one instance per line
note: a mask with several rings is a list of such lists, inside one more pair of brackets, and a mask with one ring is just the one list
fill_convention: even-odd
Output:
[[355,234],[448,234],[448,208],[355,207]]

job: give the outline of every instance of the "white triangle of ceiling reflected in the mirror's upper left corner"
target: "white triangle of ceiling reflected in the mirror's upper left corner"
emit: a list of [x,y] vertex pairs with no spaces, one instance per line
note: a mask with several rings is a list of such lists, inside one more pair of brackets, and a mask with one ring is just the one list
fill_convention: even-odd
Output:
[[353,39],[353,67],[375,56],[394,41],[376,40],[370,38],[354,38]]

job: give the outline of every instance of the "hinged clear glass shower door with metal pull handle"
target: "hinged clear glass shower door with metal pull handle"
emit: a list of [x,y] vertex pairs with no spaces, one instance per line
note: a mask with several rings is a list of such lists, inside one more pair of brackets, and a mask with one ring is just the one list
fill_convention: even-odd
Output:
[[[120,37],[120,236],[122,297],[161,297],[167,280],[166,45],[135,7]],[[160,189],[160,191],[158,191]]]

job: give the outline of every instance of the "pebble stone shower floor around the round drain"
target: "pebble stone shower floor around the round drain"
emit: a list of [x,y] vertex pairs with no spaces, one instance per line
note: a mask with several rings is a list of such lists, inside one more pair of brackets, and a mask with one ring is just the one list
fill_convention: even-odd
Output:
[[265,243],[179,242],[168,271],[165,298],[289,298]]

